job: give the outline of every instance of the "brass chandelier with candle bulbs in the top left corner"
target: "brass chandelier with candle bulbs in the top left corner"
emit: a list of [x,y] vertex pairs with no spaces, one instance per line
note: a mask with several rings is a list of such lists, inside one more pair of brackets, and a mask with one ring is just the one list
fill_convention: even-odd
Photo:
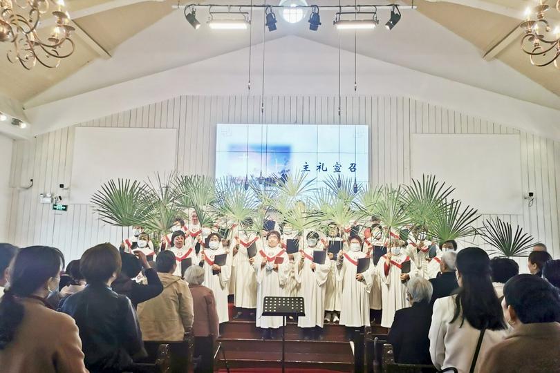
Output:
[[[19,62],[27,70],[37,62],[47,68],[57,68],[61,59],[72,55],[71,33],[75,28],[65,8],[64,0],[0,0],[0,41],[12,44],[8,60],[12,64]],[[41,39],[37,27],[48,12],[53,15],[55,25],[50,35]]]

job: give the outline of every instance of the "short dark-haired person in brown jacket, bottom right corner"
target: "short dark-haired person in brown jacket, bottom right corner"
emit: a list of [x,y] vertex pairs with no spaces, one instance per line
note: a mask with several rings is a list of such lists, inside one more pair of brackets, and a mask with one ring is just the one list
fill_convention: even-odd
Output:
[[543,278],[521,274],[503,288],[503,312],[513,331],[492,347],[480,373],[560,371],[560,296]]

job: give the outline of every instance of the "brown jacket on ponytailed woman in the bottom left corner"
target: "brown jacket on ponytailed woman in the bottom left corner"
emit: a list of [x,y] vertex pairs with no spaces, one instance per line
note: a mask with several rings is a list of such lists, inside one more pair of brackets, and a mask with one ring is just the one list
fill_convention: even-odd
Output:
[[74,319],[24,298],[24,319],[15,338],[0,350],[0,373],[86,373]]

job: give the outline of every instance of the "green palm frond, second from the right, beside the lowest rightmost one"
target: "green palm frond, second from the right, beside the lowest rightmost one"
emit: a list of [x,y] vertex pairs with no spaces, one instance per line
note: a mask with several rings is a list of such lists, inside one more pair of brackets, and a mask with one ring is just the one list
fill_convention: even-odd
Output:
[[438,242],[474,236],[476,229],[472,224],[478,218],[478,210],[470,206],[461,209],[461,202],[451,199],[451,202],[446,202],[445,208],[433,217],[427,233]]

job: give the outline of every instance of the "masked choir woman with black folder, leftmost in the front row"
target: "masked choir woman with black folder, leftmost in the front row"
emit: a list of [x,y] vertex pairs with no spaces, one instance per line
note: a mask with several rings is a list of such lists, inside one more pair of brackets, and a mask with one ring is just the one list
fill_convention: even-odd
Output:
[[[204,286],[214,292],[218,320],[220,323],[225,323],[230,321],[227,311],[227,296],[229,294],[228,283],[232,273],[231,257],[221,246],[221,238],[218,233],[210,233],[207,242],[208,247],[200,255],[200,261],[204,263]],[[216,264],[216,256],[219,255],[225,255],[225,265]]]

